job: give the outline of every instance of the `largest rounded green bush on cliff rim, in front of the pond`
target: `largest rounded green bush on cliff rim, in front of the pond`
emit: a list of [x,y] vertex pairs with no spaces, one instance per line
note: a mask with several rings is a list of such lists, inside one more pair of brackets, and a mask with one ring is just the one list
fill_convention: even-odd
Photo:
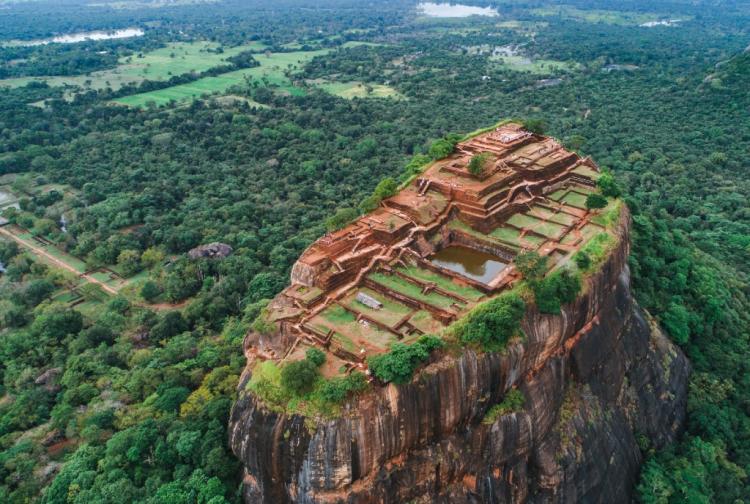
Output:
[[483,303],[454,324],[455,336],[464,344],[480,344],[487,351],[502,349],[520,334],[526,303],[518,293],[506,292]]

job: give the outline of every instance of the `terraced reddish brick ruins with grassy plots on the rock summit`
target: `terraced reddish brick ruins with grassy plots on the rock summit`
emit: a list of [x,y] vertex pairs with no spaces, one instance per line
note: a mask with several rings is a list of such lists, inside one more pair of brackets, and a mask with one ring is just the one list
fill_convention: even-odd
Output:
[[[365,370],[393,342],[437,333],[507,289],[519,252],[549,257],[550,268],[570,260],[604,231],[585,207],[598,175],[590,159],[514,123],[457,144],[375,211],[313,243],[268,307],[275,330],[251,334],[248,351],[288,361],[318,347],[326,375]],[[450,247],[489,254],[497,274],[479,280],[433,260]]]

